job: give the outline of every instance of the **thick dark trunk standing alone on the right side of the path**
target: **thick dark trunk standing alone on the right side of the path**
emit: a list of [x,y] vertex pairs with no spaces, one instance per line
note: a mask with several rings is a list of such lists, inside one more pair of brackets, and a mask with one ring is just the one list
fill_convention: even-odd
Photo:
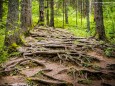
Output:
[[104,22],[103,22],[103,10],[102,10],[102,0],[94,0],[95,2],[99,2],[99,3],[95,3],[94,4],[94,20],[95,20],[95,24],[96,24],[96,33],[98,35],[98,39],[99,40],[106,40],[106,35],[105,35],[105,28],[104,28]]

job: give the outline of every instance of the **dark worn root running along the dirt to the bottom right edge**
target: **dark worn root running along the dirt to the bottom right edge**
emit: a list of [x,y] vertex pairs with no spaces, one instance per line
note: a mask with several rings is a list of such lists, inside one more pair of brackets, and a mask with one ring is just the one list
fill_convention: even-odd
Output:
[[[75,69],[76,70],[76,69]],[[101,80],[101,79],[115,79],[115,75],[108,72],[103,72],[103,71],[95,71],[95,70],[76,70],[76,74],[78,74],[78,77],[80,78],[90,78],[92,80]]]

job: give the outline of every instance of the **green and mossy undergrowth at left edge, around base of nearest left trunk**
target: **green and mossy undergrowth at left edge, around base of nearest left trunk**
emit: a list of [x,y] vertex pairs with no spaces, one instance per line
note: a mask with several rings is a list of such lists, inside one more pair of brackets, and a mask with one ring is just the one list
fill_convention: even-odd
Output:
[[4,39],[5,39],[5,28],[1,28],[0,29],[0,64],[7,61],[9,57],[20,55],[20,53],[16,51],[18,45],[16,43],[13,43],[11,46],[5,47]]

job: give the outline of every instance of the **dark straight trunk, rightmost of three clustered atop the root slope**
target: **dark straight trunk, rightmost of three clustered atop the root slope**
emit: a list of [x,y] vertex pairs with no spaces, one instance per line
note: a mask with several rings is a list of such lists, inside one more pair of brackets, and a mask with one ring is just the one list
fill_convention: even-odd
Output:
[[50,27],[54,27],[54,0],[50,1]]

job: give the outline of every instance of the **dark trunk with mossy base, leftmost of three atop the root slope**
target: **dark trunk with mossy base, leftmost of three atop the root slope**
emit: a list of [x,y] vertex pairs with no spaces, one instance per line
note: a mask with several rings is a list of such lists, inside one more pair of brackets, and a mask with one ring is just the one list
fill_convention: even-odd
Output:
[[44,25],[44,0],[39,0],[39,20],[38,25]]

